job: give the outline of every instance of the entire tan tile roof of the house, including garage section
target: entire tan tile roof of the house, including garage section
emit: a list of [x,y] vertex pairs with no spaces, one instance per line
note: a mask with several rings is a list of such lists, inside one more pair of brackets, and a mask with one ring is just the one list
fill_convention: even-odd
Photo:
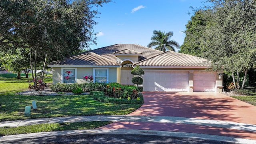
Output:
[[210,62],[204,58],[181,54],[178,52],[162,52],[138,44],[115,44],[90,50],[78,56],[52,62],[48,65],[98,65],[118,66],[115,54],[140,54],[139,66],[210,66]]

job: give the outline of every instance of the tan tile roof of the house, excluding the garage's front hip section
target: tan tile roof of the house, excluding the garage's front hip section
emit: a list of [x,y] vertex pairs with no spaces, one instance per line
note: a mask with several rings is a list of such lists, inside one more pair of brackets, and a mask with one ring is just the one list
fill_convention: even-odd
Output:
[[[83,54],[94,53],[94,54],[97,54],[98,56],[95,56],[92,54],[89,54],[89,55],[81,54],[78,56],[66,58],[61,61],[52,62],[48,65],[105,65],[105,66],[117,65],[116,56],[113,53],[118,51],[121,52],[122,50],[124,52],[135,52],[135,53],[141,52],[141,55],[138,56],[138,61],[163,53],[160,50],[154,50],[152,48],[140,46],[138,44],[114,44],[111,46],[97,48],[95,50],[90,50],[83,53]],[[105,61],[108,61],[108,63],[102,62],[103,59]]]

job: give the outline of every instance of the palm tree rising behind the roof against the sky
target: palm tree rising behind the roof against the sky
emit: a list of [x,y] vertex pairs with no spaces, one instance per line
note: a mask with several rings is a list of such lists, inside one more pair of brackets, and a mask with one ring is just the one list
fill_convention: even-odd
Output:
[[173,36],[173,32],[161,32],[160,30],[154,30],[153,31],[153,36],[151,37],[152,42],[148,44],[149,48],[152,48],[156,46],[156,50],[161,50],[163,52],[167,50],[172,50],[175,52],[174,47],[180,48],[180,45],[178,42],[174,40],[170,40],[170,38]]

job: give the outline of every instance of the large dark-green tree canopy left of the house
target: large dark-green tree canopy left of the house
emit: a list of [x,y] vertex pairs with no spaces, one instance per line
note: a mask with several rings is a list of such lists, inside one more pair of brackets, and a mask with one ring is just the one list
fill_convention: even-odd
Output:
[[[0,50],[29,48],[37,59],[60,60],[96,43],[97,10],[110,0],[1,0]],[[31,66],[31,68],[33,68]],[[36,69],[36,66],[34,66]]]

